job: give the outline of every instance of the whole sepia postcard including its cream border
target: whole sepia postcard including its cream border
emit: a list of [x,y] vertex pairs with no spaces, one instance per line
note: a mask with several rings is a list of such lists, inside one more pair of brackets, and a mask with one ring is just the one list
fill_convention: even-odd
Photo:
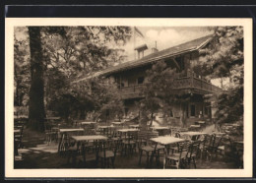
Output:
[[251,24],[6,19],[7,176],[252,176]]

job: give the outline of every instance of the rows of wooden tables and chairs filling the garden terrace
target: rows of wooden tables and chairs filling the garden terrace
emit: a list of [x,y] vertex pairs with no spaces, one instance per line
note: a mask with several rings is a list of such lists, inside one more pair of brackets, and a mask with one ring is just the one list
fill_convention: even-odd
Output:
[[[84,123],[84,124],[83,124]],[[89,124],[90,123],[90,124]],[[76,121],[73,126],[45,122],[46,144],[58,142],[60,156],[67,158],[70,167],[115,168],[116,158],[136,158],[138,165],[145,168],[160,166],[164,168],[197,168],[197,160],[213,161],[218,156],[236,161],[242,167],[243,144],[231,140],[225,132],[203,133],[207,126],[203,121],[192,125],[193,128],[175,126],[153,126],[143,129],[134,122],[93,122]],[[234,128],[226,125],[226,129]],[[196,128],[194,128],[196,127]],[[226,129],[225,129],[226,128]],[[15,127],[16,146],[22,148],[23,128]],[[190,139],[182,134],[202,134]],[[74,137],[101,137],[89,141],[77,141]],[[169,137],[182,139],[181,142],[162,145],[152,139]],[[54,144],[52,144],[54,145]],[[241,145],[241,146],[240,146]],[[17,153],[16,153],[17,154]],[[145,157],[145,158],[144,158]],[[157,164],[153,163],[156,158]],[[72,162],[72,163],[71,163]],[[145,165],[144,165],[145,163]]]

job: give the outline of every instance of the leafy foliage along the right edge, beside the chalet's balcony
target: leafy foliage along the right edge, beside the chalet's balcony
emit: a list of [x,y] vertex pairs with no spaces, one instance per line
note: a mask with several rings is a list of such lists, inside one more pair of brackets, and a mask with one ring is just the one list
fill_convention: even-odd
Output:
[[208,78],[229,78],[229,85],[215,95],[219,123],[243,119],[243,28],[217,27],[214,40],[201,51],[196,70]]

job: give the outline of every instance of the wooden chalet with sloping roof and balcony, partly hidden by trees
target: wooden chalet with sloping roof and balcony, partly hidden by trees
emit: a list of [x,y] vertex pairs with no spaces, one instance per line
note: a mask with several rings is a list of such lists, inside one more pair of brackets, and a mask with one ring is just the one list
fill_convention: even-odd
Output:
[[[147,81],[146,71],[151,69],[154,63],[163,60],[180,73],[180,77],[174,81],[175,88],[191,93],[185,112],[187,122],[193,123],[198,120],[200,114],[205,119],[211,119],[211,103],[205,101],[203,96],[221,91],[221,89],[192,71],[192,67],[198,63],[199,50],[207,46],[211,40],[212,35],[207,35],[161,51],[153,48],[152,53],[146,56],[143,51],[147,49],[147,46],[143,45],[136,49],[138,55],[142,55],[141,58],[109,67],[96,73],[96,76],[104,76],[118,85],[125,104],[125,115],[138,114],[139,110],[135,106],[135,101],[143,98],[141,90]],[[170,111],[169,117],[179,120],[179,105],[173,105],[173,111]]]

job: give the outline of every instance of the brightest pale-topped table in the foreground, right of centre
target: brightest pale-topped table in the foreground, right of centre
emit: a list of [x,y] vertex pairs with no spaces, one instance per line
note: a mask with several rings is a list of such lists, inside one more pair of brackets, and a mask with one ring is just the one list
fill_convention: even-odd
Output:
[[[167,145],[171,145],[171,144],[175,144],[175,143],[185,142],[187,140],[179,139],[179,138],[174,138],[174,137],[170,137],[170,136],[161,136],[161,137],[157,137],[157,138],[152,138],[151,141],[156,143],[155,150],[157,150],[158,144],[163,145],[165,147],[164,148],[164,153],[163,153],[163,169],[164,169],[165,168],[166,146]],[[152,157],[153,156],[154,156],[154,154],[152,155]],[[151,160],[152,160],[152,158],[151,158]]]

